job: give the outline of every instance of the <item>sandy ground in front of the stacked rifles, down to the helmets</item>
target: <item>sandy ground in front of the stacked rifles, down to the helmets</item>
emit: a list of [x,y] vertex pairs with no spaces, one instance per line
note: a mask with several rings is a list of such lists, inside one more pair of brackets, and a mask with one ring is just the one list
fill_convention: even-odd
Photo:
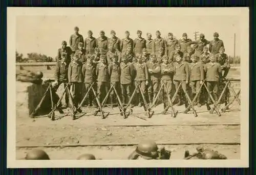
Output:
[[[56,112],[55,121],[47,117],[28,118],[16,117],[16,145],[66,145],[66,144],[101,144],[101,143],[138,143],[141,139],[153,139],[157,143],[165,144],[165,147],[173,151],[171,159],[182,159],[184,151],[196,150],[197,143],[240,143],[240,115],[238,108],[233,107],[222,113],[222,116],[209,114],[205,106],[198,111],[199,116],[179,113],[176,118],[159,114],[162,105],[155,108],[155,115],[147,118],[142,108],[135,107],[134,114],[123,119],[118,114],[118,109],[104,108],[105,112],[111,112],[105,119],[91,115],[93,110],[83,108],[86,114],[78,115],[78,119],[72,120],[67,114],[60,116]],[[184,106],[176,107],[181,112]],[[68,109],[65,110],[68,113]],[[137,116],[137,117],[136,117]],[[140,117],[140,118],[138,118]],[[143,119],[142,119],[143,118]],[[184,126],[184,124],[206,124],[206,126]],[[234,126],[227,124],[234,124]],[[166,126],[151,126],[151,125]],[[183,125],[180,125],[183,124]],[[222,125],[207,125],[222,124]],[[223,125],[224,124],[224,125]],[[135,127],[139,125],[139,127]],[[192,145],[186,145],[190,143]],[[193,145],[193,143],[195,143]],[[167,145],[166,145],[167,144]],[[179,144],[179,145],[173,145]],[[210,144],[211,148],[225,154],[229,159],[240,158],[240,145]],[[17,148],[16,158],[22,158],[32,148]],[[85,146],[85,147],[44,147],[52,159],[76,159],[79,154],[93,153],[101,159],[126,159],[133,151],[134,146]],[[115,153],[115,154],[114,154]]]

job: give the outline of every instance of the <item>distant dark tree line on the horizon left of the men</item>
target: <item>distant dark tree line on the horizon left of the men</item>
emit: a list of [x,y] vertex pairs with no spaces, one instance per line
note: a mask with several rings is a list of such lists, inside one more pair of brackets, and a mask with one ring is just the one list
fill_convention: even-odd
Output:
[[45,54],[28,53],[26,58],[16,51],[16,62],[53,62],[53,58]]

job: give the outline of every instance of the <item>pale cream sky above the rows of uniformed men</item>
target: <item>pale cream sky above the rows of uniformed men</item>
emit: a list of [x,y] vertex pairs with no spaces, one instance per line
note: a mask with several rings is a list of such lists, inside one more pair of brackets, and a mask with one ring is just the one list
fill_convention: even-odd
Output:
[[[130,37],[137,37],[136,31],[142,31],[142,37],[151,33],[156,37],[157,30],[162,37],[172,32],[177,39],[183,33],[188,38],[194,39],[194,32],[204,33],[207,40],[213,39],[214,32],[219,33],[223,40],[227,55],[233,56],[234,33],[236,33],[236,56],[240,55],[240,19],[236,15],[171,15],[168,13],[84,13],[85,15],[22,15],[16,17],[16,51],[24,57],[27,53],[36,52],[56,57],[57,49],[61,47],[61,41],[66,40],[74,33],[74,27],[79,27],[79,33],[87,37],[88,30],[93,31],[94,37],[99,37],[99,31],[103,30],[107,37],[114,30],[120,39],[125,37],[124,32],[130,31]],[[205,11],[207,13],[207,11]]]

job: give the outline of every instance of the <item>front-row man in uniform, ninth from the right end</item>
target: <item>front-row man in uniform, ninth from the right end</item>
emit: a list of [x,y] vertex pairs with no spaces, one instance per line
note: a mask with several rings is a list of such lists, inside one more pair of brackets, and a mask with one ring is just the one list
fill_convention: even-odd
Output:
[[106,65],[106,56],[100,55],[100,62],[96,66],[96,76],[98,81],[98,99],[101,103],[101,94],[106,94],[109,92],[109,70]]

